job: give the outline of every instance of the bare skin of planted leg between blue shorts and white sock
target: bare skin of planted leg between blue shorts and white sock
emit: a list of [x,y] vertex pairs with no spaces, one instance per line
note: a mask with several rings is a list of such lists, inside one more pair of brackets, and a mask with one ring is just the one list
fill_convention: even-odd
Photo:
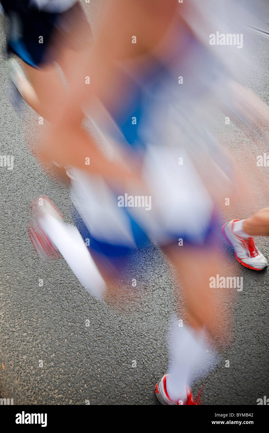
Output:
[[[222,345],[229,330],[228,314],[223,314],[222,310],[222,303],[227,302],[228,291],[217,292],[209,288],[209,278],[222,273],[219,252],[215,248],[180,248],[183,247],[172,246],[166,248],[165,253],[180,278],[186,298],[188,323],[198,331],[206,326],[210,335]],[[219,317],[222,317],[221,320]]]

